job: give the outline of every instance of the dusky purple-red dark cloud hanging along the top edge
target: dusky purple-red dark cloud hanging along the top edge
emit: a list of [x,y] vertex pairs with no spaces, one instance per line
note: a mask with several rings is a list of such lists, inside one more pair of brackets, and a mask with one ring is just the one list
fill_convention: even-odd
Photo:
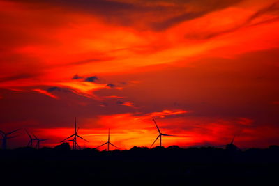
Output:
[[[243,0],[186,0],[186,1],[100,1],[100,0],[52,0],[52,1],[35,1],[35,0],[14,0],[25,3],[29,6],[58,6],[63,9],[89,13],[103,17],[106,22],[114,22],[128,26],[141,22],[142,17],[151,15],[150,19],[145,20],[144,25],[148,25],[149,29],[161,31],[170,26],[179,24],[186,20],[192,20],[206,13],[215,10],[227,8]],[[163,3],[169,3],[165,6]],[[193,8],[194,7],[194,8]],[[191,9],[193,8],[193,10]],[[164,15],[165,19],[163,19]],[[158,19],[160,17],[160,19]]]

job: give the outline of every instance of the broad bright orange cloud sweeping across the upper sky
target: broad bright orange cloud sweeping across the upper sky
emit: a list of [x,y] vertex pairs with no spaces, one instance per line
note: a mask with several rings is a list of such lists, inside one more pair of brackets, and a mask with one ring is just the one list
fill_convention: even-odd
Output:
[[[42,70],[43,76],[40,78],[46,78],[51,82],[52,80],[63,82],[63,79],[71,77],[77,72],[82,75],[90,75],[93,70],[99,75],[115,74],[158,64],[179,63],[179,65],[183,65],[190,63],[193,59],[211,56],[234,57],[246,52],[278,46],[279,36],[276,32],[278,24],[275,20],[277,6],[272,8],[272,2],[275,1],[257,1],[257,6],[250,6],[246,1],[224,3],[223,6],[220,6],[222,8],[216,8],[216,10],[213,8],[212,12],[206,10],[206,14],[190,20],[179,21],[164,31],[158,32],[148,29],[141,30],[133,25],[122,26],[107,23],[105,20],[99,19],[98,15],[71,13],[71,9],[63,15],[57,13],[57,24],[55,22],[53,24],[41,23],[36,19],[32,24],[29,22],[30,17],[38,16],[47,20],[52,18],[47,17],[50,15],[48,13],[50,10],[47,9],[50,4],[46,3],[44,13],[38,15],[35,10],[29,10],[24,5],[17,6],[17,3],[1,1],[3,9],[5,9],[3,15],[16,18],[14,13],[17,12],[17,15],[22,15],[22,24],[27,24],[24,27],[17,24],[11,24],[15,27],[5,24],[8,27],[5,27],[8,29],[7,33],[10,30],[13,31],[8,36],[13,37],[13,33],[19,30],[34,36],[33,39],[36,38],[34,41],[32,40],[33,42],[10,46],[10,53],[6,53],[6,55],[32,56],[40,62],[34,63],[25,60],[19,63],[38,70],[43,67],[45,70]],[[138,5],[136,2],[134,3]],[[178,8],[189,6],[188,3],[181,3],[179,6],[176,3],[170,4]],[[190,7],[196,9],[197,5],[199,3],[190,4]],[[211,3],[209,5],[211,6]],[[153,6],[153,4],[151,3],[149,6]],[[164,7],[168,8],[166,5]],[[204,8],[204,6],[202,7]],[[184,8],[179,8],[179,13],[183,14],[183,11],[185,11]],[[133,14],[132,11],[129,13]],[[163,18],[168,20],[169,15],[166,14],[166,17]],[[152,14],[144,15],[144,20],[150,20],[149,16]],[[159,17],[157,19],[160,20]],[[71,20],[71,22],[66,24],[64,20]],[[250,21],[248,22],[248,20]],[[10,22],[15,22],[15,20],[10,19]],[[40,26],[37,24],[45,24],[42,27],[47,26],[48,32],[38,29]],[[34,31],[32,31],[33,29]],[[49,33],[50,31],[52,34]],[[27,38],[27,36],[22,37]],[[43,38],[47,38],[47,40],[43,40]],[[246,47],[243,47],[244,45]],[[3,68],[8,69],[10,66],[3,66]],[[17,72],[27,70],[23,65],[16,68]],[[13,68],[11,69],[13,70]],[[17,86],[20,85],[17,84]]]

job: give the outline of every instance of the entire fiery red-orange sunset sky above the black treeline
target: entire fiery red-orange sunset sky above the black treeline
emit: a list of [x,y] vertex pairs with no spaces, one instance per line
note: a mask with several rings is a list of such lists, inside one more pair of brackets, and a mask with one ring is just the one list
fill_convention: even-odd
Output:
[[[56,146],[279,144],[279,1],[0,0],[0,130]],[[157,146],[158,141],[154,146]],[[102,148],[101,148],[102,149]]]

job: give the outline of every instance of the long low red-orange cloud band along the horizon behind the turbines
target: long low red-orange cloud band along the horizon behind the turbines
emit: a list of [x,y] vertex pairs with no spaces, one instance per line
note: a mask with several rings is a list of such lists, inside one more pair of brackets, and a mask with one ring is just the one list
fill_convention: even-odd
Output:
[[[133,146],[149,147],[158,136],[156,126],[150,116],[151,114],[114,114],[99,116],[97,121],[94,119],[95,123],[86,120],[78,123],[78,127],[80,127],[80,136],[89,143],[82,139],[79,139],[78,143],[80,146],[85,144],[87,147],[95,148],[107,141],[107,132],[110,128],[112,143],[121,149],[129,149]],[[267,134],[271,138],[278,136],[278,129],[269,126],[243,125],[243,121],[251,122],[249,118],[236,118],[230,121],[184,118],[183,116],[156,119],[161,132],[175,135],[174,137],[163,137],[163,146],[224,146],[232,140],[232,137],[236,136],[235,144],[241,148],[266,147],[266,145],[270,145],[269,141],[264,141]],[[45,145],[55,146],[59,144],[59,141],[73,134],[73,128],[38,128],[33,132],[38,137],[50,139]],[[100,150],[105,148],[100,148]]]

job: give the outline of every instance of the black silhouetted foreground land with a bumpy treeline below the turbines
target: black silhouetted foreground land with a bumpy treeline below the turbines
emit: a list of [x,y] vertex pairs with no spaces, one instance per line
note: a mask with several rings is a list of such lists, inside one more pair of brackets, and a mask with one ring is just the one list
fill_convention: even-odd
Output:
[[172,146],[108,153],[18,148],[0,150],[0,157],[1,183],[8,185],[279,184],[278,146],[245,151]]

